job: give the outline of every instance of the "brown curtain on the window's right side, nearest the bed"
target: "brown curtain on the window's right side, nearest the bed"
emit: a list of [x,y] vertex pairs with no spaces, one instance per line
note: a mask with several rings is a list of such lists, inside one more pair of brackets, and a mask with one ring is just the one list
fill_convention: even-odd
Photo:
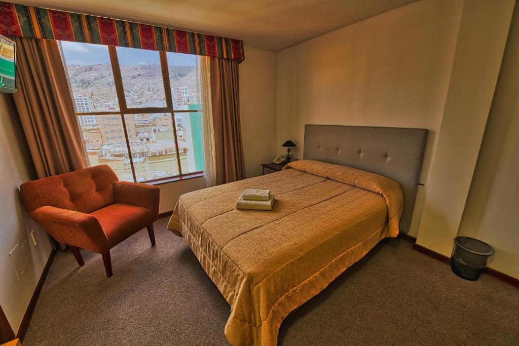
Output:
[[245,177],[238,61],[200,57],[204,109],[204,170],[208,186]]

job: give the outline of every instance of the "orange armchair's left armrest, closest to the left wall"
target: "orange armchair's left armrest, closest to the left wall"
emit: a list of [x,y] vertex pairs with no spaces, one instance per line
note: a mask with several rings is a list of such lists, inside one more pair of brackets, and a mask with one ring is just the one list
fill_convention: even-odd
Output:
[[97,253],[104,253],[112,247],[99,220],[93,215],[45,205],[30,216],[59,242]]

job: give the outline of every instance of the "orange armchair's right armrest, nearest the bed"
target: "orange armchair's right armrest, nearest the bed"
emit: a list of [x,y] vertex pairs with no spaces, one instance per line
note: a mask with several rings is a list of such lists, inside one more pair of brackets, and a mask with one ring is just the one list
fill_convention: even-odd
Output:
[[160,189],[142,183],[115,182],[115,203],[142,206],[152,212],[153,220],[159,218]]

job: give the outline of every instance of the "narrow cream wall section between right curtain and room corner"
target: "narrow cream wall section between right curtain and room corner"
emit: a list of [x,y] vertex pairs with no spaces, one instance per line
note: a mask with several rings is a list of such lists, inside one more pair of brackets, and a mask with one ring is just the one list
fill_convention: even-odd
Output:
[[[282,142],[277,140],[276,52],[245,45],[240,64],[240,120],[245,173],[261,174]],[[279,142],[279,143],[278,143]]]

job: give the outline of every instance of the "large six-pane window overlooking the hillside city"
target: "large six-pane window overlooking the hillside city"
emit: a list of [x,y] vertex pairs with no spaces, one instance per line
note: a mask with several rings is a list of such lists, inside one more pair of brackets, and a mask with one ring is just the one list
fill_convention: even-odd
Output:
[[60,41],[90,165],[122,181],[203,171],[198,57]]

